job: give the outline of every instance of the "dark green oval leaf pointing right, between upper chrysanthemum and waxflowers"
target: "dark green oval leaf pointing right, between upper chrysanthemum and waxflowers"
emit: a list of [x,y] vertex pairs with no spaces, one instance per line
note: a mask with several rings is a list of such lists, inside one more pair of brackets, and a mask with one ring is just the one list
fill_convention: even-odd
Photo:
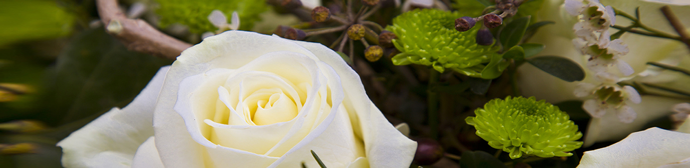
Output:
[[527,62],[546,73],[563,79],[563,81],[573,82],[584,79],[582,67],[578,63],[561,56],[539,56],[527,59]]

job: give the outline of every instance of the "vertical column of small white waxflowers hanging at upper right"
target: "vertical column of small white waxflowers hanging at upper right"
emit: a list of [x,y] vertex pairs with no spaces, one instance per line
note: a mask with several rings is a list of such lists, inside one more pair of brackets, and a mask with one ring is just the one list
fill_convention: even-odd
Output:
[[620,56],[629,52],[628,46],[621,39],[612,41],[609,34],[609,27],[615,24],[613,8],[603,6],[598,0],[566,0],[565,9],[580,20],[573,27],[578,36],[573,44],[583,55],[590,56],[586,66],[600,82],[580,83],[574,90],[575,96],[593,97],[584,101],[582,107],[595,118],[615,109],[621,122],[633,122],[637,114],[627,103],[640,103],[640,94],[633,87],[618,85],[620,78],[608,71],[609,66],[615,65],[625,76],[634,72],[628,63],[620,60]]

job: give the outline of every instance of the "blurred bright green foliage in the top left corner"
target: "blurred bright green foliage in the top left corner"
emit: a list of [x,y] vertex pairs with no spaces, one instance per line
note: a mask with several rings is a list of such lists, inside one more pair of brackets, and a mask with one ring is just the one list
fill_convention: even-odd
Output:
[[0,46],[72,32],[75,15],[50,0],[0,1]]

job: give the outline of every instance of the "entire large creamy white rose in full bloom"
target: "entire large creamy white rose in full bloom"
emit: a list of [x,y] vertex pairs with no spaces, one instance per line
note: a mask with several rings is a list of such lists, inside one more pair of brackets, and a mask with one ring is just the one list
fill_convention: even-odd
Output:
[[182,52],[123,109],[72,133],[64,167],[408,167],[417,143],[319,43],[254,32]]

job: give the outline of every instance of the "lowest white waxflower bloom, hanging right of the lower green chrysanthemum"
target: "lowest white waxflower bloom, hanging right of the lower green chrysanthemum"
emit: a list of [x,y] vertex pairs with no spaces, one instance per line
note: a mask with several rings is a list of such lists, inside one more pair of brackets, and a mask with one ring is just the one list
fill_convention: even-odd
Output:
[[595,78],[601,82],[599,85],[580,83],[573,90],[578,97],[593,96],[584,101],[582,108],[594,118],[601,118],[607,111],[615,109],[620,122],[633,122],[637,114],[627,103],[638,104],[642,101],[638,91],[631,86],[616,84],[620,79],[608,72],[599,72]]

